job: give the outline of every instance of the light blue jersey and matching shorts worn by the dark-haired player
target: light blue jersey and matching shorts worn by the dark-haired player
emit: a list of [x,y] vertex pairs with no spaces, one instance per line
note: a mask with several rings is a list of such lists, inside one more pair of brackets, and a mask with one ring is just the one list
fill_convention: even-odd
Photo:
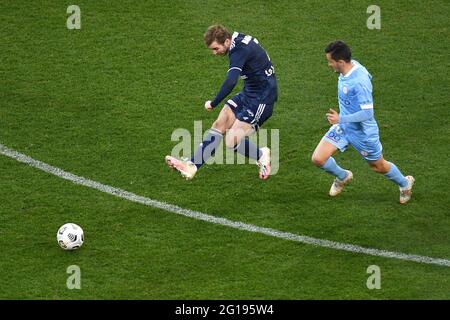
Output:
[[324,138],[341,151],[351,144],[364,159],[375,161],[381,157],[382,146],[373,116],[372,75],[358,61],[352,64],[346,75],[339,76],[339,124]]

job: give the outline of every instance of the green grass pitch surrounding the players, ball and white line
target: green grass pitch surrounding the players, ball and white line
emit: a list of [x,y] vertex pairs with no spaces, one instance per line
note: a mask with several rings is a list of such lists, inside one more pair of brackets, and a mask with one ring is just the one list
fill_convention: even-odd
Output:
[[[67,7],[81,9],[68,30]],[[151,199],[260,227],[450,259],[448,1],[2,1],[0,143]],[[176,128],[208,128],[228,66],[203,33],[254,35],[270,54],[279,101],[280,169],[207,165],[192,181],[164,156]],[[337,104],[323,53],[335,39],[373,75],[386,159],[416,177],[413,198],[337,155],[355,179],[336,199],[311,153]],[[242,84],[239,83],[240,87]],[[240,231],[75,185],[0,155],[1,299],[449,299],[450,268],[337,251]],[[74,252],[60,225],[85,231]],[[66,270],[81,270],[69,290]],[[381,269],[369,290],[367,268]]]

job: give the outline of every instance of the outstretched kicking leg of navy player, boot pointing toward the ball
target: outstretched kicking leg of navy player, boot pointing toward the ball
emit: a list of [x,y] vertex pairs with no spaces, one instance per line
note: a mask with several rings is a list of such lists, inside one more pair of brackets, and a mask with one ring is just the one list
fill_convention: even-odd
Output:
[[191,160],[178,160],[172,156],[166,156],[167,164],[171,168],[178,170],[186,179],[192,179],[197,170],[215,154],[217,147],[222,141],[223,134],[233,125],[235,119],[233,111],[229,106],[225,105],[211,129],[208,130],[202,143],[195,150]]

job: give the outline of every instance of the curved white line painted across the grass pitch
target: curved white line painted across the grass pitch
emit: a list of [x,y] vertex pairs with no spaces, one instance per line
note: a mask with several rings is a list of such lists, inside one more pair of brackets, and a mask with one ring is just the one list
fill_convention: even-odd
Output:
[[371,256],[377,256],[377,257],[385,257],[385,258],[393,258],[393,259],[400,259],[400,260],[406,260],[406,261],[413,261],[418,263],[425,263],[425,264],[434,264],[439,266],[446,266],[450,267],[450,260],[447,259],[439,259],[439,258],[431,258],[426,256],[419,256],[415,254],[406,254],[401,252],[395,252],[395,251],[386,251],[386,250],[380,250],[380,249],[372,249],[372,248],[365,248],[360,247],[353,244],[348,243],[340,243],[330,240],[323,240],[323,239],[316,239],[308,236],[302,236],[294,233],[289,232],[282,232],[271,228],[263,228],[258,227],[252,224],[247,224],[239,221],[232,221],[224,218],[218,218],[211,216],[206,213],[193,211],[189,209],[184,209],[169,203],[153,200],[150,198],[146,198],[143,196],[139,196],[137,194],[114,188],[108,185],[104,185],[102,183],[92,181],[90,179],[86,179],[77,175],[74,175],[70,172],[66,172],[62,169],[53,167],[51,165],[48,165],[44,162],[34,160],[33,158],[30,158],[20,152],[17,152],[15,150],[9,149],[8,147],[4,146],[3,144],[0,144],[0,153],[12,158],[14,160],[17,160],[19,162],[25,163],[31,167],[34,167],[36,169],[45,171],[47,173],[50,173],[52,175],[55,175],[57,177],[63,178],[65,180],[72,181],[75,184],[79,184],[82,186],[86,186],[89,188],[97,189],[101,192],[105,192],[111,195],[114,195],[119,198],[127,199],[132,202],[141,203],[149,207],[162,209],[168,212],[176,213],[179,215],[183,215],[189,218],[194,218],[198,220],[203,220],[206,222],[231,227],[239,230],[249,231],[249,232],[255,232],[255,233],[261,233],[265,234],[271,237],[281,238],[285,240],[291,240],[306,244],[311,244],[318,247],[324,247],[324,248],[330,248],[335,250],[342,250],[342,251],[349,251],[353,253],[362,253],[367,254]]

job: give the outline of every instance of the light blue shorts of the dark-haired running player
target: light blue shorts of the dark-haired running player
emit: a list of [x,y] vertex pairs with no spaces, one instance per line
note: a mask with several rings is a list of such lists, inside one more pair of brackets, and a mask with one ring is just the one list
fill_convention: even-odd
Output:
[[344,130],[338,124],[332,125],[330,130],[323,136],[323,139],[338,148],[341,152],[347,150],[348,145],[351,145],[367,161],[376,161],[383,154],[383,146],[379,137],[360,139],[354,135],[345,134]]

